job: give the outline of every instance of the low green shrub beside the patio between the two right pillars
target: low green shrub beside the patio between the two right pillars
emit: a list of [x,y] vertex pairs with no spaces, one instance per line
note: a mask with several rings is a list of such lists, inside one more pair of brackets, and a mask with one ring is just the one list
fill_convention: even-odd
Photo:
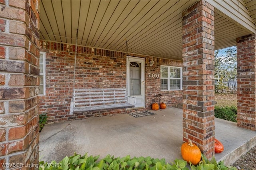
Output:
[[235,106],[231,106],[231,107],[215,106],[214,115],[215,115],[215,117],[220,118],[220,119],[237,122],[236,121],[237,108]]

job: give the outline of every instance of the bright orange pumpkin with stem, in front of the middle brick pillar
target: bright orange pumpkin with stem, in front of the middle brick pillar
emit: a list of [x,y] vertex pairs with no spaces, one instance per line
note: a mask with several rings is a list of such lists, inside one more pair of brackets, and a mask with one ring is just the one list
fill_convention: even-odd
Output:
[[188,163],[190,161],[193,165],[197,165],[201,160],[201,150],[190,139],[187,143],[182,144],[181,155],[184,160]]

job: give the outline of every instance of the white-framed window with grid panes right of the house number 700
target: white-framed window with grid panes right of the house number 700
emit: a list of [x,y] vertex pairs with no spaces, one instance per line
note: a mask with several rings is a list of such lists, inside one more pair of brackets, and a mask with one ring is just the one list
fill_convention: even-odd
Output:
[[161,65],[161,90],[182,89],[182,67]]

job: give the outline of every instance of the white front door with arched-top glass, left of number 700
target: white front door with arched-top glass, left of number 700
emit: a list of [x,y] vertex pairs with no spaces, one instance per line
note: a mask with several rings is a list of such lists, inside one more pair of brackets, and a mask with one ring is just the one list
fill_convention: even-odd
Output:
[[[145,107],[144,59],[127,56],[127,93],[136,98],[137,107]],[[134,99],[128,97],[128,103]]]

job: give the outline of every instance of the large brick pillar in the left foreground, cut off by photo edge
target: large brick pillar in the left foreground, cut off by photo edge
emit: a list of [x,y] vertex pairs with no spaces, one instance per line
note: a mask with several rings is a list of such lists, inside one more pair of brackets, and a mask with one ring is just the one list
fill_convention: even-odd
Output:
[[39,0],[0,0],[0,169],[38,164],[38,7]]

